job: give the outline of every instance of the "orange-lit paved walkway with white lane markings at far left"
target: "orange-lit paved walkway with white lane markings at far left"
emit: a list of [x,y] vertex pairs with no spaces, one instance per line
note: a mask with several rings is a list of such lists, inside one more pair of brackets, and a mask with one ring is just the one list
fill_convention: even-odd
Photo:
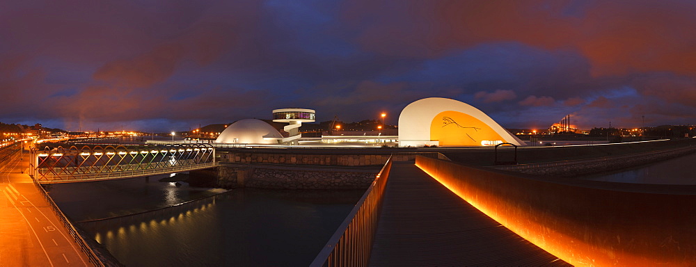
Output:
[[23,161],[0,173],[0,266],[92,266],[26,175],[28,168],[25,151]]

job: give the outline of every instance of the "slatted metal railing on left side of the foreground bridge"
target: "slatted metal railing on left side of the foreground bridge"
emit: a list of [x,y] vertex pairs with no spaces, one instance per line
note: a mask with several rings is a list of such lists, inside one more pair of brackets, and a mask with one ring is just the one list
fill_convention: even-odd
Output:
[[372,240],[377,231],[392,162],[391,158],[387,160],[372,185],[310,266],[367,266],[370,263]]

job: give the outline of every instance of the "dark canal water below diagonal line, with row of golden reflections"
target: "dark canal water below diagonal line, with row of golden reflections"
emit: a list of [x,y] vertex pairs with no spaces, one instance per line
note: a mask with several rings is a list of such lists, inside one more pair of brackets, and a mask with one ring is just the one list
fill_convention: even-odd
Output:
[[363,193],[247,188],[81,226],[126,266],[307,266]]

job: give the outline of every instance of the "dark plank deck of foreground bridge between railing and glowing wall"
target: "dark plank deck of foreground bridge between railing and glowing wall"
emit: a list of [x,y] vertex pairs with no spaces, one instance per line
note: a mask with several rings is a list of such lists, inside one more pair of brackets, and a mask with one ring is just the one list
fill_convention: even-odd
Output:
[[370,266],[570,266],[503,227],[413,162],[395,162]]

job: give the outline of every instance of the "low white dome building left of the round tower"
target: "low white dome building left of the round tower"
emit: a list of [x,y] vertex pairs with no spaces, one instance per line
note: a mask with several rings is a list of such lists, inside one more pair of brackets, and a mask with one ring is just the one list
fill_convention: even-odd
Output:
[[278,130],[262,120],[244,119],[230,124],[215,140],[228,144],[278,144],[282,140]]

